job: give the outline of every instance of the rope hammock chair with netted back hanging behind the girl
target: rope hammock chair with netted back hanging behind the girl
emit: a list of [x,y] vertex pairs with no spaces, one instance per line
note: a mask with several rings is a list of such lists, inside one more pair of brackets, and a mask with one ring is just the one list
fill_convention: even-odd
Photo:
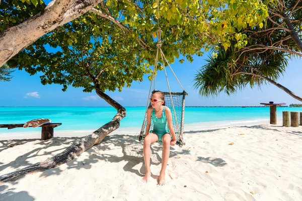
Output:
[[[159,3],[158,3],[159,5]],[[158,16],[159,16],[159,6],[158,6]],[[161,54],[161,58],[162,58],[162,64],[165,70],[165,74],[166,74],[166,80],[167,80],[167,84],[168,84],[168,89],[169,92],[164,92],[165,94],[165,103],[166,106],[171,110],[171,115],[172,115],[172,126],[176,135],[176,144],[179,145],[180,147],[182,147],[182,145],[185,145],[185,142],[183,140],[183,132],[184,132],[184,115],[185,115],[185,96],[188,95],[188,93],[185,91],[184,87],[181,85],[181,83],[179,82],[177,76],[175,75],[173,69],[171,68],[168,60],[166,59],[163,51],[162,51],[162,41],[161,41],[161,28],[159,26],[159,19],[158,19],[158,30],[157,30],[157,38],[158,38],[158,42],[157,42],[157,54],[156,54],[156,59],[155,59],[155,64],[154,64],[154,69],[153,69],[153,80],[150,83],[150,89],[149,89],[149,94],[148,94],[148,99],[147,99],[147,104],[146,104],[146,111],[145,111],[145,116],[144,116],[144,120],[142,123],[142,127],[141,127],[141,131],[140,134],[138,136],[138,140],[141,141],[144,137],[145,137],[145,133],[146,133],[146,122],[147,122],[147,109],[149,106],[151,106],[151,103],[149,102],[149,97],[150,97],[150,92],[151,92],[151,88],[152,88],[152,83],[154,81],[154,90],[155,89],[155,81],[156,81],[156,75],[157,75],[157,64],[158,64],[158,56],[159,53]],[[169,85],[169,81],[168,81],[168,76],[167,76],[167,71],[166,71],[166,66],[165,66],[165,62],[168,64],[168,66],[170,67],[171,71],[173,72],[174,76],[176,77],[178,83],[180,84],[180,86],[183,88],[183,92],[171,92],[170,90],[170,85]],[[168,97],[168,95],[170,96],[170,98]],[[166,125],[167,126],[167,125]],[[150,130],[153,130],[153,121],[151,121],[151,126],[150,126]],[[160,141],[158,141],[160,142]]]

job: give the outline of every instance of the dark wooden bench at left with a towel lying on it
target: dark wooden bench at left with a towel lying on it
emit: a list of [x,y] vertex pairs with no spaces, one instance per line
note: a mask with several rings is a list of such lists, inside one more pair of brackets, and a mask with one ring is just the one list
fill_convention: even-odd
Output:
[[[0,128],[8,128],[8,129],[14,129],[14,128],[23,128],[24,124],[0,124]],[[44,124],[42,126],[41,131],[41,140],[48,140],[53,137],[53,128],[58,127],[62,125],[62,123],[51,123],[51,124]],[[31,127],[31,126],[29,126]]]

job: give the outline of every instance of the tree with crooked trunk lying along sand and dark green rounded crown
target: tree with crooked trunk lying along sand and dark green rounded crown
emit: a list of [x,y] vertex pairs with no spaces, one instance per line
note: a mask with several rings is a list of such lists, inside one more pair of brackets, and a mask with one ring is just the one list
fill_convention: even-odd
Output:
[[[37,43],[28,47],[11,59],[11,67],[24,68],[30,74],[43,72],[43,84],[57,83],[66,90],[68,85],[84,87],[85,92],[95,90],[108,104],[117,110],[111,122],[105,124],[93,134],[86,136],[77,144],[73,144],[65,151],[16,172],[3,175],[0,181],[16,179],[26,173],[42,171],[56,167],[72,160],[93,145],[100,143],[104,137],[119,127],[119,122],[126,116],[125,109],[105,90],[121,90],[124,85],[130,86],[133,80],[142,80],[145,73],[150,72],[148,58],[140,54],[142,47],[135,43],[135,38],[123,35],[122,30],[103,22],[102,30],[93,26],[95,14],[85,14],[65,24],[56,32],[43,36]],[[100,19],[104,21],[104,19]],[[84,31],[85,30],[85,31]],[[126,36],[126,37],[125,37]],[[124,38],[125,37],[125,38]],[[44,45],[56,48],[54,52],[47,52]]]

